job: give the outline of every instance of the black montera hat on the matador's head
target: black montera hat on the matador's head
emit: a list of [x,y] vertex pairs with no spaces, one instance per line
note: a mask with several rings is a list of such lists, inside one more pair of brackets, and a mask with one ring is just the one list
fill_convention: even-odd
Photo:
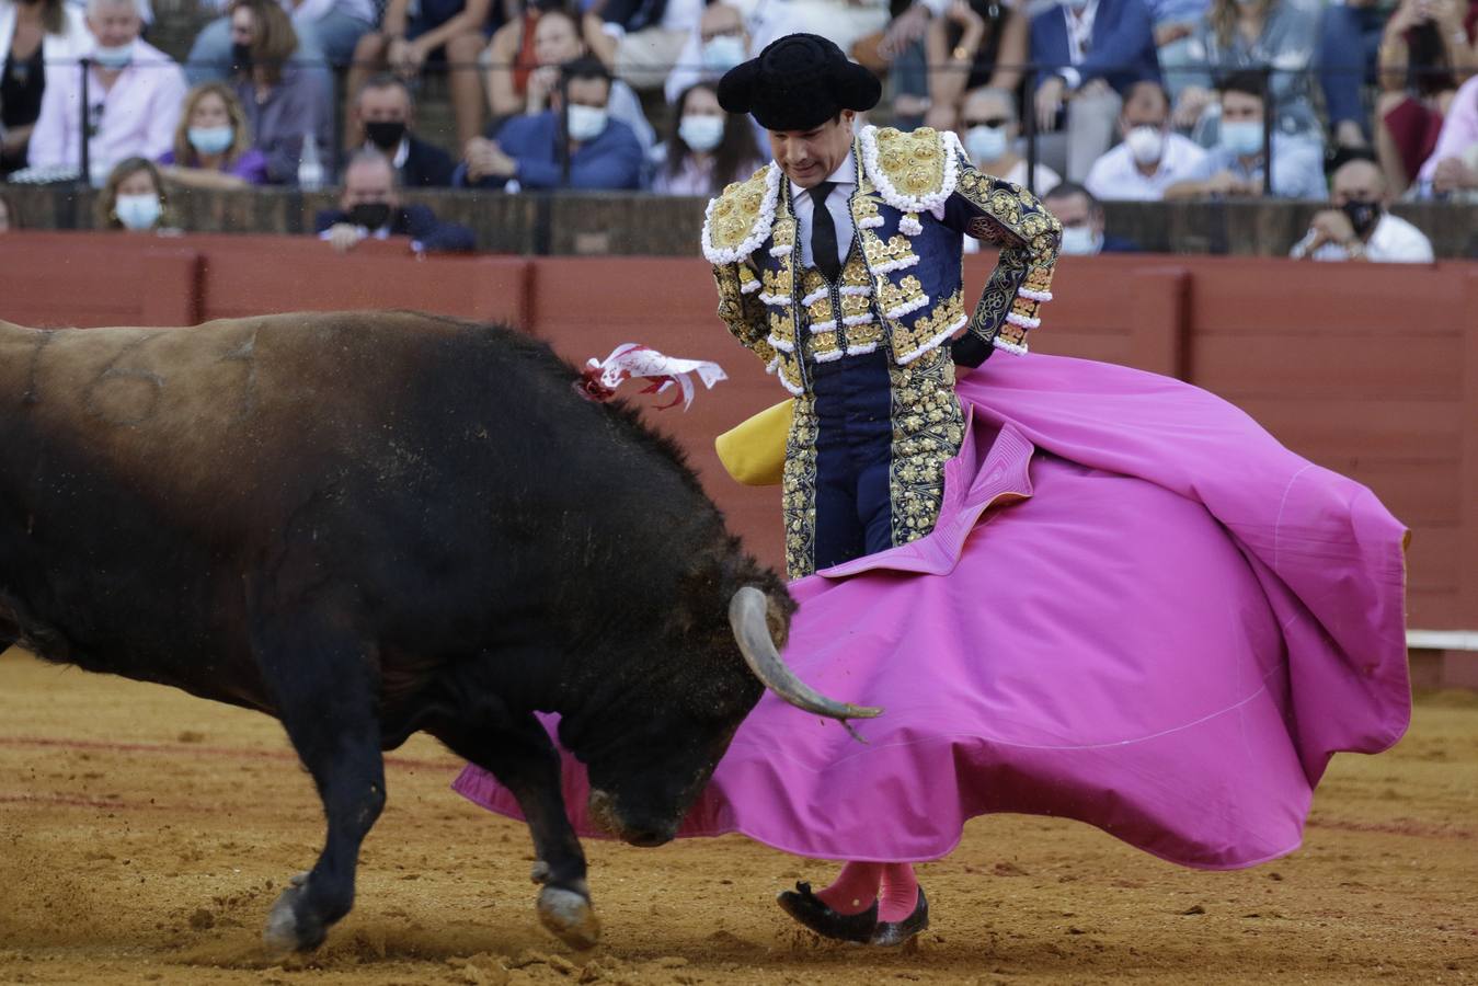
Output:
[[786,34],[718,80],[718,105],[766,130],[810,130],[842,109],[872,109],[882,83],[816,34]]

